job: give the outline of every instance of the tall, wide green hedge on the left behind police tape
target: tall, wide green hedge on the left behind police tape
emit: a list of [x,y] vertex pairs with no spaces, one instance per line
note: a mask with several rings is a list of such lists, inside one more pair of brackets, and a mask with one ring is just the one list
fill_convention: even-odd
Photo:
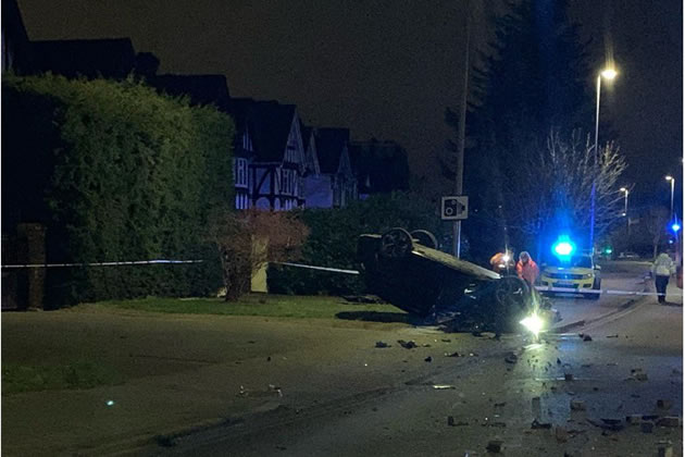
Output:
[[133,79],[50,74],[3,75],[2,109],[8,222],[43,223],[48,262],[205,260],[54,269],[49,305],[221,286],[205,227],[210,212],[233,201],[231,118]]

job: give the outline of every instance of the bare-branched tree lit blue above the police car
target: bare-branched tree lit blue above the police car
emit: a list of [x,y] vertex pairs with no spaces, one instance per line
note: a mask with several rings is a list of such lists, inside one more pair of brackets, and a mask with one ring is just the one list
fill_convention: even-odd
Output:
[[620,217],[622,194],[616,181],[625,160],[613,143],[599,149],[595,166],[594,145],[578,132],[569,140],[552,129],[544,147],[533,145],[516,170],[508,171],[510,226],[539,236],[562,214],[578,228],[590,224],[590,193],[596,184],[595,232],[600,236]]

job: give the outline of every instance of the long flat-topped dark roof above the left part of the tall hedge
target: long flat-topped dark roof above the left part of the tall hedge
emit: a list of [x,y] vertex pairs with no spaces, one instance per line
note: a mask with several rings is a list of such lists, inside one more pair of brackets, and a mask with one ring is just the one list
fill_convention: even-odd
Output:
[[135,66],[130,38],[32,41],[36,70],[67,77],[125,78]]

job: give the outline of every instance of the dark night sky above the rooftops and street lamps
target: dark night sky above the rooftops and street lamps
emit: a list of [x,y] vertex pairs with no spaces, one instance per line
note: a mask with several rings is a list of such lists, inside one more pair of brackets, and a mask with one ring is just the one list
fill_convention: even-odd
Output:
[[[444,110],[460,99],[463,0],[18,3],[30,39],[128,36],[160,58],[161,72],[223,73],[234,96],[296,103],[306,122],[349,126],[354,139],[395,139],[428,177],[452,134]],[[472,0],[481,47],[491,35],[483,13],[500,3]],[[636,201],[668,201],[663,175],[683,182],[682,1],[572,3],[594,61],[612,54],[620,66],[601,118],[628,159],[625,182],[637,184]]]

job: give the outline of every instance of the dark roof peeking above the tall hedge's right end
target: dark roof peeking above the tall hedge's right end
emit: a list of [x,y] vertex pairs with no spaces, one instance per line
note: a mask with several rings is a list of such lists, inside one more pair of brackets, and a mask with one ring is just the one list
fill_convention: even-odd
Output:
[[159,75],[148,83],[173,96],[187,95],[192,104],[213,104],[229,112],[231,95],[224,75]]

